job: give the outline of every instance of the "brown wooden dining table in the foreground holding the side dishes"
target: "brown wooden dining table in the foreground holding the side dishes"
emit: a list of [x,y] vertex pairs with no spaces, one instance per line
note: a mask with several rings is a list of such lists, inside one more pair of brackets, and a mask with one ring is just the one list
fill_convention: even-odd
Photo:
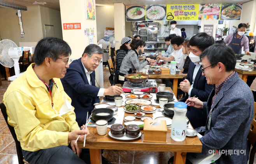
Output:
[[[166,90],[172,91],[170,87],[166,87]],[[159,106],[156,107],[160,108]],[[127,115],[134,114],[125,112],[124,116]],[[146,116],[153,117],[153,114],[146,114]],[[136,118],[136,120],[140,119]],[[170,129],[168,129],[167,132],[167,144],[143,142],[143,130],[140,130],[140,132],[142,132],[142,136],[140,138],[126,141],[110,138],[108,134],[103,136],[98,135],[95,127],[88,127],[88,130],[90,134],[86,136],[85,147],[83,147],[83,142],[77,142],[77,145],[79,148],[86,148],[90,150],[91,164],[102,164],[101,149],[174,152],[174,164],[185,164],[187,152],[202,152],[202,143],[197,136],[186,137],[184,141],[177,142],[172,140]],[[108,128],[107,133],[109,130],[110,129]]]

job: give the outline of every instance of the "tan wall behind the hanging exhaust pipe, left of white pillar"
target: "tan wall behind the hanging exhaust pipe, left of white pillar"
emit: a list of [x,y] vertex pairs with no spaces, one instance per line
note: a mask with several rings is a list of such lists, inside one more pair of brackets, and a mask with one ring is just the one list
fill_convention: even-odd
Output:
[[27,6],[21,11],[24,38],[20,36],[17,10],[0,7],[0,36],[10,39],[19,46],[19,42],[38,42],[45,37],[44,24],[54,25],[55,37],[62,39],[60,11],[42,6]]

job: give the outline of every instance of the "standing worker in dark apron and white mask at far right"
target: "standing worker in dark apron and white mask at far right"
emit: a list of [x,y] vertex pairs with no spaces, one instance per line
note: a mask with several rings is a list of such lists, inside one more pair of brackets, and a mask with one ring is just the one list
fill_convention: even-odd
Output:
[[245,55],[251,56],[249,52],[249,39],[244,35],[247,28],[247,24],[240,23],[237,32],[228,34],[226,39],[224,39],[224,42],[233,49],[235,54],[241,54],[242,47],[244,46]]

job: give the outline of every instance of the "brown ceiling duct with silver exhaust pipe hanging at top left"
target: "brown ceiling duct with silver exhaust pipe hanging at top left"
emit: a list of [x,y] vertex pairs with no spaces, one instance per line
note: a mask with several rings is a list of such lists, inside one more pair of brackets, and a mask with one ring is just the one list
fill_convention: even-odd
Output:
[[23,5],[18,5],[18,4],[10,3],[10,2],[5,2],[3,0],[0,0],[0,7],[6,7],[6,8],[18,10],[17,15],[19,17],[19,26],[21,28],[21,34],[25,34],[23,32],[23,25],[22,25],[22,19],[21,19],[21,10],[22,11],[27,11],[28,8],[26,6],[23,6]]

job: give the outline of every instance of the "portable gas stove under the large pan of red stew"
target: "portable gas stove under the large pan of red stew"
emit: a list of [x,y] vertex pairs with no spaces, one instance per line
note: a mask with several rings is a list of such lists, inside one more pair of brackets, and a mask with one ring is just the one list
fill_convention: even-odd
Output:
[[158,89],[157,89],[156,80],[148,79],[146,82],[142,82],[140,84],[133,84],[131,82],[124,82],[123,91],[124,92],[131,92],[131,93],[133,93],[133,91],[156,93],[158,91]]

